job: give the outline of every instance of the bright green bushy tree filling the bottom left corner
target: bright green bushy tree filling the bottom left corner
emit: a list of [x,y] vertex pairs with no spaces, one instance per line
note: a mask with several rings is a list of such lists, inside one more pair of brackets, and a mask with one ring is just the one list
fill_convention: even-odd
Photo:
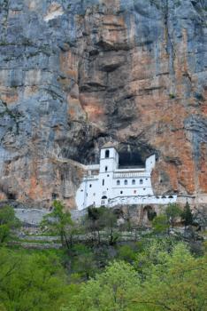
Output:
[[65,271],[50,252],[0,249],[0,301],[7,311],[57,311],[68,295]]

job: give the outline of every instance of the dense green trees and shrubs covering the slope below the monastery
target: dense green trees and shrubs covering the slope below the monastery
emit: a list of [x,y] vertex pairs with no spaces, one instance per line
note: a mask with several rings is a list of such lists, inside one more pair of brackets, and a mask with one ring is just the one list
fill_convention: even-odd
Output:
[[[185,227],[193,223],[188,205],[182,212],[169,205],[151,218],[151,233],[120,243],[113,211],[90,208],[83,222],[74,224],[55,201],[42,226],[59,235],[61,250],[0,244],[0,311],[205,311],[204,243],[192,252],[190,243],[169,235],[178,218]],[[12,208],[0,210],[0,220],[8,227],[4,241],[11,244],[19,226]],[[132,230],[131,223],[126,227]]]

